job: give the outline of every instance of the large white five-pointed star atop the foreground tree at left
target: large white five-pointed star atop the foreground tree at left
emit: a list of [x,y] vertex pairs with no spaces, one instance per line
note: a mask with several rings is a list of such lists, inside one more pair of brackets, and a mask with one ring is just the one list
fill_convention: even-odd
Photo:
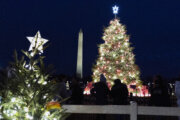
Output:
[[[47,39],[41,38],[41,34],[38,31],[34,37],[27,37],[27,39],[30,41],[31,45],[29,47],[29,51],[33,51],[34,49],[39,50],[39,54],[43,53],[43,45],[48,42]],[[33,56],[34,53],[31,53]]]

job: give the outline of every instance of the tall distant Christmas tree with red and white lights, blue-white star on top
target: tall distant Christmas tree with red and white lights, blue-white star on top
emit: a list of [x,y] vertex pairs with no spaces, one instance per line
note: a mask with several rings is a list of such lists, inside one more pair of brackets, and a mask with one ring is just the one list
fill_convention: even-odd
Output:
[[133,48],[130,47],[129,36],[125,26],[116,18],[118,7],[113,7],[115,19],[104,30],[102,39],[105,43],[99,45],[99,57],[93,67],[93,81],[99,81],[104,74],[111,85],[115,79],[120,79],[127,85],[141,85],[140,72],[135,64]]

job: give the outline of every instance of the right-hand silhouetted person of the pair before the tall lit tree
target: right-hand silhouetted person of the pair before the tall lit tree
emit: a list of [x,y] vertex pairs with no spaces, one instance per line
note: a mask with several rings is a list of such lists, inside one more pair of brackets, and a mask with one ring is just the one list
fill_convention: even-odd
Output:
[[127,105],[128,89],[126,84],[123,84],[119,79],[116,79],[111,89],[111,96],[113,98],[114,105]]

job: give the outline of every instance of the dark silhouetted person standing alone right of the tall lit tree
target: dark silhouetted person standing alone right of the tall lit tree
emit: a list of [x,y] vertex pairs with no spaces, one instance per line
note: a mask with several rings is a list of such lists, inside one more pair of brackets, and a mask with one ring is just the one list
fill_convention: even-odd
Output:
[[151,90],[150,104],[153,106],[170,106],[168,88],[161,76],[154,77],[154,84]]

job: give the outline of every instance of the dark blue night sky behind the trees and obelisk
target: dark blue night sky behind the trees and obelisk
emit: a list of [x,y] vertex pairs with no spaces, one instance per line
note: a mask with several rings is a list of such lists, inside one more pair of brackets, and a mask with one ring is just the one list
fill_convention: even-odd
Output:
[[57,73],[73,75],[82,28],[84,75],[90,75],[115,4],[142,76],[176,77],[180,73],[179,0],[0,0],[0,67],[13,60],[15,49],[28,50],[26,36],[40,30],[50,43],[45,62],[53,64]]

